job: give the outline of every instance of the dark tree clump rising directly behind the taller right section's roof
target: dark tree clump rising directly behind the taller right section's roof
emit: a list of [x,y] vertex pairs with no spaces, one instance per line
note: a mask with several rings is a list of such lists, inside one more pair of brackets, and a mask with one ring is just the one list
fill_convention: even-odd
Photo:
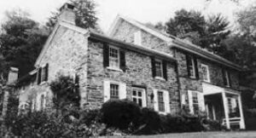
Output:
[[229,24],[221,14],[213,14],[206,20],[201,12],[181,9],[175,13],[174,18],[166,22],[166,32],[180,38],[190,37],[192,43],[201,48],[224,55],[227,49],[223,41],[230,34]]

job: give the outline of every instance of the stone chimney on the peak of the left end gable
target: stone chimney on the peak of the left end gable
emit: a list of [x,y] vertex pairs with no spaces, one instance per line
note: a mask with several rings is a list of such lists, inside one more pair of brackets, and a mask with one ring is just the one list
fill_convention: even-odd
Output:
[[58,20],[60,20],[60,21],[65,21],[65,22],[68,22],[68,23],[70,23],[70,24],[75,25],[76,15],[75,15],[75,13],[73,12],[73,9],[74,9],[73,4],[65,3],[65,4],[61,7],[61,9],[60,9],[61,14],[59,14]]

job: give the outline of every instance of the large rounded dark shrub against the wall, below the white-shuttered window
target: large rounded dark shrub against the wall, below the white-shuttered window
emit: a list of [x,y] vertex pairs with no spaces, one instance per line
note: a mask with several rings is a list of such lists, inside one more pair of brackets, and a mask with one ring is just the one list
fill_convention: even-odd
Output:
[[107,127],[121,130],[134,130],[139,126],[141,117],[140,107],[132,101],[107,101],[103,104],[102,122]]

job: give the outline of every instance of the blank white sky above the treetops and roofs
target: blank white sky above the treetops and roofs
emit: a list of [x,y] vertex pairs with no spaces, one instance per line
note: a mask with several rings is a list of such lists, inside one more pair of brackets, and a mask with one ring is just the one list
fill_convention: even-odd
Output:
[[[234,12],[255,3],[255,0],[241,0],[241,5],[229,0],[95,0],[97,17],[102,30],[106,32],[117,14],[123,14],[141,22],[166,22],[178,9],[200,10],[203,14],[222,13],[234,20]],[[44,23],[51,11],[61,7],[67,0],[0,0],[0,24],[4,20],[4,12],[11,9],[25,9],[32,19]]]

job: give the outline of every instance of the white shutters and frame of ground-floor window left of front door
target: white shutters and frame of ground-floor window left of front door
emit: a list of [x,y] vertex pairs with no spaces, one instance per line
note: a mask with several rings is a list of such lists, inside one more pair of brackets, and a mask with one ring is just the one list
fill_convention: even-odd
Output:
[[104,95],[104,102],[110,100],[110,84],[119,85],[119,99],[123,100],[126,99],[127,91],[126,91],[126,83],[120,83],[111,80],[104,80],[103,81],[103,95]]

